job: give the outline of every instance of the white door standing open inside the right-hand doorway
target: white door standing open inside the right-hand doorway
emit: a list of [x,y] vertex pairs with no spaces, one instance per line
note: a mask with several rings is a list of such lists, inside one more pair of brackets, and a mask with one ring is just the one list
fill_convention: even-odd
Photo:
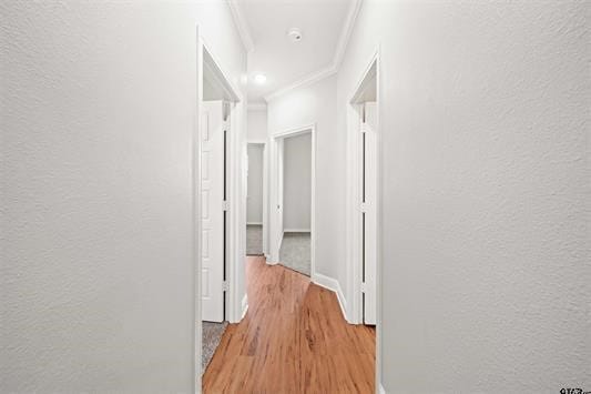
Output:
[[365,104],[363,173],[363,223],[364,223],[364,323],[376,324],[377,315],[377,105]]

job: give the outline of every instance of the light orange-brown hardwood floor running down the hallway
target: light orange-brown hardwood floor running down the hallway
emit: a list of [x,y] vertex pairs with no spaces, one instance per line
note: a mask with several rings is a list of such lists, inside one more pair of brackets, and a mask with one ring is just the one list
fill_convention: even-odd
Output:
[[247,257],[248,313],[231,324],[204,393],[375,393],[375,330],[347,324],[336,295]]

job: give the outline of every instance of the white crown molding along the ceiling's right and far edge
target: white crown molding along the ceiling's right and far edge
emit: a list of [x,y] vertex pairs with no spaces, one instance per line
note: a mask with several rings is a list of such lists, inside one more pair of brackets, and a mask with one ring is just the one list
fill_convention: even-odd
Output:
[[351,2],[345,24],[343,26],[343,30],[340,31],[337,48],[335,50],[335,57],[333,58],[333,62],[330,63],[330,65],[318,71],[314,71],[313,73],[302,78],[300,80],[293,82],[286,87],[279,88],[274,92],[265,95],[264,99],[266,102],[273,101],[294,89],[303,88],[308,84],[318,82],[338,72],[340,63],[343,62],[343,58],[345,57],[347,44],[349,43],[350,34],[353,32],[353,29],[355,28],[355,21],[357,20],[357,16],[359,14],[359,10],[361,9],[361,3],[363,0],[353,0]]

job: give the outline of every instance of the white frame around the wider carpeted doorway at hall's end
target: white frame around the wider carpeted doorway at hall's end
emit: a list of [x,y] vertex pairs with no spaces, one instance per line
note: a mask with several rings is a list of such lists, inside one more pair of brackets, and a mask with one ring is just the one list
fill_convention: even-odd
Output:
[[[271,209],[269,209],[269,259],[267,264],[277,264],[279,262],[279,249],[281,242],[283,240],[283,229],[278,228],[278,214],[275,209],[278,201],[278,160],[279,160],[279,145],[283,140],[288,137],[295,137],[309,132],[312,134],[312,173],[310,173],[310,279],[314,277],[316,272],[316,123],[302,125],[294,129],[288,129],[273,133],[271,137],[271,149],[269,149],[269,162],[271,162]],[[282,201],[283,204],[283,201]]]

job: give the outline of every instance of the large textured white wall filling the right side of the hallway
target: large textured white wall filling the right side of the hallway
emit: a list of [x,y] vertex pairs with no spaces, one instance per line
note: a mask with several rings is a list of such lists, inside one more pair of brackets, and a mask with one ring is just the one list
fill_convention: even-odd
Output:
[[588,18],[364,1],[338,130],[379,44],[388,393],[591,385]]

